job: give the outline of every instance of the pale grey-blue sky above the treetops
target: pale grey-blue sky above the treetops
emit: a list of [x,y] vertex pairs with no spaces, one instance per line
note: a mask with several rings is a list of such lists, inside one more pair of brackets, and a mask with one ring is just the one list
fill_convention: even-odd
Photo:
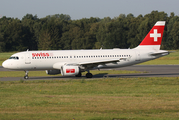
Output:
[[132,13],[135,17],[153,10],[179,15],[179,0],[0,0],[0,17],[22,19],[26,14],[38,18],[54,14],[70,15],[72,20],[90,17],[118,17]]

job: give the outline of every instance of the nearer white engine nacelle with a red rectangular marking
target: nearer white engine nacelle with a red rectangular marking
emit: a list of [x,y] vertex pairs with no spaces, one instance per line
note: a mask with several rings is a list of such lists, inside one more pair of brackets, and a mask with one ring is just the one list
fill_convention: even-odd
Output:
[[80,72],[80,68],[78,66],[64,65],[61,67],[61,74],[63,76],[78,75],[79,72]]

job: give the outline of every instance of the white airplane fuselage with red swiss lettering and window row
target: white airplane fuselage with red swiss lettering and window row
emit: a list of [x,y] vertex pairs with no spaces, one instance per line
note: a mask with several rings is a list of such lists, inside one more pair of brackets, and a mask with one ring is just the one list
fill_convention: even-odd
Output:
[[[162,51],[162,50],[160,50]],[[144,61],[152,60],[159,56],[151,56],[149,53],[154,50],[140,49],[103,49],[103,50],[49,50],[49,51],[25,51],[12,55],[12,58],[3,63],[5,68],[14,70],[51,70],[55,63],[64,64],[80,64],[84,62],[94,62],[103,60],[118,59],[118,62],[98,64],[90,69],[96,68],[116,68]]]

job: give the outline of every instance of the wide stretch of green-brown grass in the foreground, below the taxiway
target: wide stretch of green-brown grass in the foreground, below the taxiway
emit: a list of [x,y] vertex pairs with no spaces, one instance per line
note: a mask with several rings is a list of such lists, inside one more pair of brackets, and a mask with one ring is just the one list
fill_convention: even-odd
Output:
[[179,78],[0,82],[0,119],[179,119]]

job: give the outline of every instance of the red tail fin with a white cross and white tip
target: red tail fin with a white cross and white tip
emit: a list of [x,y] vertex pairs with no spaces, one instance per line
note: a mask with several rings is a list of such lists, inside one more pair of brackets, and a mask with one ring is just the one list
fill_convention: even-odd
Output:
[[158,21],[150,30],[150,32],[146,35],[146,37],[138,47],[143,48],[144,46],[148,46],[148,47],[155,46],[156,48],[158,46],[160,48],[164,27],[165,27],[165,21]]

